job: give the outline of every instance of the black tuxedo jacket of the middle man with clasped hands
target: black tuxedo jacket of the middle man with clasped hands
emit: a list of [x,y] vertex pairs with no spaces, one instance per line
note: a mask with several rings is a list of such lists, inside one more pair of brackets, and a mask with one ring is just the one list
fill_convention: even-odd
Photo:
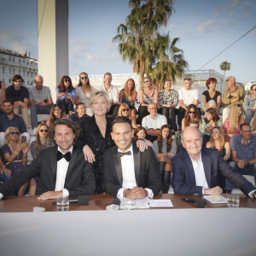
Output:
[[[158,160],[153,149],[148,147],[144,152],[140,152],[135,143],[132,144],[132,149],[137,187],[152,189],[154,195],[158,194],[161,189],[161,179]],[[113,196],[117,196],[123,183],[121,160],[117,153],[117,147],[108,148],[103,161],[103,191]]]

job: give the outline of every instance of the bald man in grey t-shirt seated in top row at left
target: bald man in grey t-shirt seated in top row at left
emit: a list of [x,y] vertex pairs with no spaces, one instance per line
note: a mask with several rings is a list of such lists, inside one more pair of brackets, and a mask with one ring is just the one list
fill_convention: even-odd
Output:
[[37,75],[34,79],[35,87],[29,90],[29,101],[31,111],[31,125],[33,135],[36,135],[38,127],[38,113],[49,114],[50,107],[53,105],[50,90],[48,86],[44,86],[44,79]]

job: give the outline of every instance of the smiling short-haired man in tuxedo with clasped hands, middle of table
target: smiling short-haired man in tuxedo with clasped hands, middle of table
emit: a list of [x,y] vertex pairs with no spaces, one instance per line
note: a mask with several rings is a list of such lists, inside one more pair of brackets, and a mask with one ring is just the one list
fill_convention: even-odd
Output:
[[153,149],[140,152],[131,143],[131,120],[119,117],[113,120],[112,138],[116,147],[109,148],[103,161],[103,190],[114,196],[131,200],[153,197],[161,189],[158,161]]

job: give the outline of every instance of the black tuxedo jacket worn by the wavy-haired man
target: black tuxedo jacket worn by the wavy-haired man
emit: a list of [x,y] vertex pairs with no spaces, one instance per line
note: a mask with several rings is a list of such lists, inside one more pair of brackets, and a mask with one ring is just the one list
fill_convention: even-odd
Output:
[[[0,187],[0,193],[7,196],[35,176],[40,177],[42,193],[54,191],[57,171],[56,152],[57,146],[42,149],[38,157],[26,166],[23,172],[18,173]],[[79,148],[73,147],[64,189],[68,190],[70,197],[90,195],[96,189],[92,164],[84,160],[84,153]]]

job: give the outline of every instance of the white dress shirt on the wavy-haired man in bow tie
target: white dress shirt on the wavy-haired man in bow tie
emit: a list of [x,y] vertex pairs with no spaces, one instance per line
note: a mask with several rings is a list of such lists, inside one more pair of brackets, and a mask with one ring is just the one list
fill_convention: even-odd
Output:
[[[61,148],[58,147],[58,150],[61,151]],[[70,153],[72,154],[73,146],[69,149]],[[55,183],[55,191],[62,190],[63,197],[67,197],[69,195],[69,192],[67,189],[64,189],[66,175],[67,175],[67,168],[68,168],[69,162],[63,157],[61,160],[57,161],[57,176],[56,176],[56,183]]]

